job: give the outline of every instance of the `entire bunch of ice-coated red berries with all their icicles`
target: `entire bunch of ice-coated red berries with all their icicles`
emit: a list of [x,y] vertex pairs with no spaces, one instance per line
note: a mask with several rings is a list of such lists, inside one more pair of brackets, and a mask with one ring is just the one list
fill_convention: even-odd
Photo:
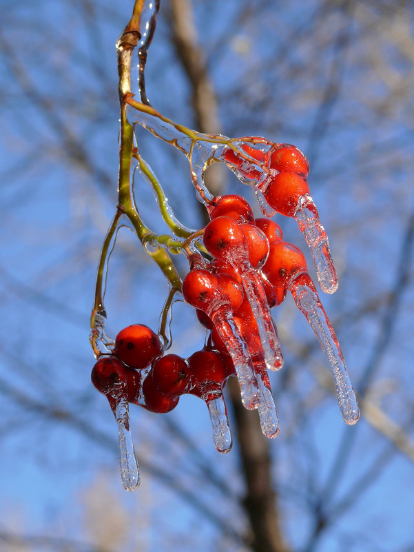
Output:
[[[309,164],[302,152],[292,145],[249,138],[238,139],[237,147],[225,147],[221,159],[272,209],[296,218],[311,247],[322,289],[335,291],[338,279],[309,196]],[[278,434],[267,371],[280,369],[283,356],[270,310],[282,303],[288,290],[329,358],[344,420],[358,420],[340,345],[300,249],[283,241],[274,221],[255,219],[242,196],[217,196],[206,207],[209,224],[192,234],[182,249],[189,261],[182,292],[208,331],[204,349],[187,359],[164,354],[163,340],[149,327],[135,324],[119,332],[111,354],[101,356],[92,370],[92,382],[107,396],[120,427],[121,473],[127,473],[123,480],[128,489],[138,484],[138,469],[131,468],[136,461],[128,436],[128,403],[166,413],[183,393],[192,393],[207,404],[216,449],[227,452],[231,433],[222,389],[235,374],[242,403],[258,409],[265,436]]]

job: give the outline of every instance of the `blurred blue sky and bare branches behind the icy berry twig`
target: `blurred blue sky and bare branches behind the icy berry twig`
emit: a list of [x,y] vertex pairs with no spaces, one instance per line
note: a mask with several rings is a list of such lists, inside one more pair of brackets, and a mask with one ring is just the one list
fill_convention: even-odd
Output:
[[[362,419],[342,422],[327,360],[288,296],[274,312],[285,356],[271,375],[280,436],[262,439],[256,414],[231,407],[234,449],[220,456],[197,398],[167,415],[132,407],[142,484],[126,493],[116,423],[90,383],[88,334],[116,205],[114,43],[132,4],[0,1],[0,550],[414,550],[413,3],[161,1],[146,70],[154,107],[309,157],[340,278],[322,301]],[[200,227],[187,161],[144,130],[138,141],[176,216]],[[253,201],[228,170],[215,179]],[[139,178],[136,192],[145,221],[165,232]],[[276,221],[315,279],[295,221]],[[166,292],[141,244],[121,232],[108,333],[156,328]],[[172,331],[172,352],[203,346],[183,303]]]

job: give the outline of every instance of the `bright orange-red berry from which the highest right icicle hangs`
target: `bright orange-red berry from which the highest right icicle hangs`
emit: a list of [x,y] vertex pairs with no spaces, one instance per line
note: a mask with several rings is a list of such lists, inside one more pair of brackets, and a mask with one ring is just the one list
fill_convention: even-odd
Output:
[[309,194],[307,181],[294,172],[276,174],[265,190],[267,203],[285,216],[294,216],[299,198],[304,194]]

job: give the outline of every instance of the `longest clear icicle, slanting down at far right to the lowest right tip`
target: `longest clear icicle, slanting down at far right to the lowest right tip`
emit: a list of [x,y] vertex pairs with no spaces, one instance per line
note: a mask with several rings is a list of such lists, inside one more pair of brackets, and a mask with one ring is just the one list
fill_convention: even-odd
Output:
[[320,298],[313,282],[309,276],[300,276],[299,283],[296,285],[295,280],[289,286],[293,298],[298,305],[298,308],[306,316],[311,325],[315,336],[320,341],[322,349],[324,349],[333,373],[333,381],[335,382],[336,394],[338,396],[338,404],[342,411],[344,421],[353,425],[360,417],[355,391],[349,380],[346,372],[344,357],[335,336],[335,331],[327,317],[327,314],[320,303]]

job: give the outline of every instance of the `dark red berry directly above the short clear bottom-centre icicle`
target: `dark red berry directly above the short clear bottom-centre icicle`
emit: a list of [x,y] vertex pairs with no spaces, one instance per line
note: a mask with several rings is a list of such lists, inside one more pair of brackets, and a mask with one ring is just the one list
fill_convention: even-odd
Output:
[[204,400],[211,400],[221,392],[227,378],[227,369],[218,351],[203,349],[187,359],[194,388],[191,393]]

